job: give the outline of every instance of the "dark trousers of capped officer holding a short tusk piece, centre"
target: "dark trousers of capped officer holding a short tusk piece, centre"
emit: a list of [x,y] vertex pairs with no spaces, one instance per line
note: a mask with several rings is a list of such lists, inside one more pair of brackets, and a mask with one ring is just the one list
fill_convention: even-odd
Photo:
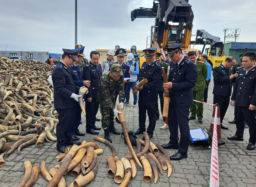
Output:
[[140,100],[139,104],[139,129],[142,131],[146,131],[146,112],[149,116],[149,126],[147,127],[148,134],[154,134],[154,130],[156,127],[156,103],[155,102],[147,102]]

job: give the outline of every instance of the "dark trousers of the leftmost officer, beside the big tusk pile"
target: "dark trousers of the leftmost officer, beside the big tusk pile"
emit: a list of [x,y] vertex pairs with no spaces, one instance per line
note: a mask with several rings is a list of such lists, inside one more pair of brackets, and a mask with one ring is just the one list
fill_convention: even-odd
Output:
[[56,108],[59,119],[59,123],[56,126],[57,147],[65,146],[65,143],[69,143],[71,141],[71,128],[74,121],[76,107],[77,106],[67,109]]

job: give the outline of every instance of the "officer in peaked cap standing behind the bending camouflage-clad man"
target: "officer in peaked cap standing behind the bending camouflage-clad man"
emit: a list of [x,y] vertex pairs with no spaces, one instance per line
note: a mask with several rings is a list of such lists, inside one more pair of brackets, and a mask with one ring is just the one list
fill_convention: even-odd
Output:
[[[115,55],[117,56],[117,64],[120,64],[122,66],[122,72],[124,74],[124,78],[130,78],[130,73],[129,73],[129,70],[130,70],[130,67],[127,66],[125,63],[124,63],[124,58],[125,58],[125,55],[126,54],[126,51],[125,49],[123,48],[120,48],[120,49],[117,49]],[[129,81],[129,80],[128,80]],[[124,95],[126,95],[126,91],[127,91],[127,83],[128,83],[127,80],[124,80]],[[117,96],[118,96],[118,89],[116,88],[116,100],[117,100]],[[124,101],[122,101],[124,102]],[[116,103],[116,101],[115,101]],[[121,123],[117,117],[116,117],[116,121],[118,123]],[[121,134],[119,131],[118,131],[118,134]]]

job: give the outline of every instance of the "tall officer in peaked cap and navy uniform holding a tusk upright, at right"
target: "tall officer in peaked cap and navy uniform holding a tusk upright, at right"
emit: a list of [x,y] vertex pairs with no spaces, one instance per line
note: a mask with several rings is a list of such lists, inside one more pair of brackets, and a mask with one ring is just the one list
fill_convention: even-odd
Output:
[[[168,48],[168,56],[173,63],[170,65],[168,83],[164,83],[164,89],[169,89],[169,131],[170,141],[161,145],[164,149],[178,149],[178,152],[170,157],[171,160],[187,158],[189,149],[189,108],[193,104],[193,87],[197,82],[197,68],[193,62],[182,55],[182,44],[176,44]],[[180,143],[178,135],[180,128]]]

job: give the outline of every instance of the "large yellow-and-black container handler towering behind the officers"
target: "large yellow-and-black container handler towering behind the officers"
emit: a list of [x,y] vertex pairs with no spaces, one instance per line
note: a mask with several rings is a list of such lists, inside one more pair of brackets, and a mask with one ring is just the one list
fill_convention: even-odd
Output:
[[[132,21],[135,18],[156,18],[155,25],[151,26],[151,35],[147,37],[147,48],[160,49],[164,53],[162,59],[165,59],[162,48],[179,43],[182,43],[183,55],[197,51],[198,57],[199,51],[189,48],[194,14],[188,0],[158,0],[158,3],[154,0],[152,8],[135,9],[131,12],[131,18]],[[143,61],[145,58],[140,57],[140,67]]]

